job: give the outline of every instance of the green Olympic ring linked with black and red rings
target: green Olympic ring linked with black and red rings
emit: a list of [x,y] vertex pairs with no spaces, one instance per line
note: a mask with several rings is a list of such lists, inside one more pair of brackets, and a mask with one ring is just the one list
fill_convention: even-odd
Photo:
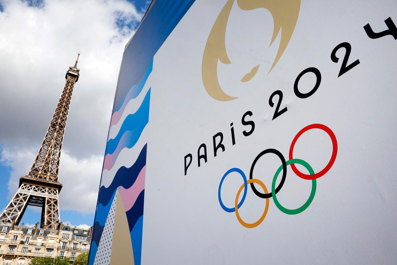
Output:
[[[287,165],[291,165],[292,164],[301,164],[302,166],[304,166],[310,173],[310,175],[314,174],[313,168],[306,162],[303,161],[302,159],[291,159],[287,161]],[[276,171],[276,174],[274,174],[274,178],[273,178],[273,182],[272,182],[272,195],[273,195],[273,201],[274,204],[277,206],[277,208],[282,211],[283,213],[286,213],[288,215],[296,215],[298,213],[302,213],[304,210],[306,210],[306,208],[310,205],[310,203],[312,203],[313,199],[314,199],[314,194],[316,193],[316,179],[312,180],[312,191],[310,192],[310,196],[307,199],[307,201],[304,203],[304,205],[302,205],[301,207],[297,208],[297,209],[287,209],[285,207],[283,207],[277,197],[276,197],[276,191],[275,191],[275,187],[276,187],[276,180],[278,177],[278,174],[280,174],[281,169],[283,169],[283,165],[281,165],[278,170]]]

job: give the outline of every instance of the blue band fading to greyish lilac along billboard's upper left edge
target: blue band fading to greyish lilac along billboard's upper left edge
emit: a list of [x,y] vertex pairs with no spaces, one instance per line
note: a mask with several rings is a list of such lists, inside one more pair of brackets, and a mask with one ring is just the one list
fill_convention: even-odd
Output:
[[[195,0],[156,0],[124,50],[113,112]],[[112,113],[113,113],[112,112]]]

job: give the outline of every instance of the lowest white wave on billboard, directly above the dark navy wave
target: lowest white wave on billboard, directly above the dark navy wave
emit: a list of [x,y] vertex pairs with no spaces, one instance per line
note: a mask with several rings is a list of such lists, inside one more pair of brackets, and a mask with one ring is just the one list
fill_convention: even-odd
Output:
[[105,169],[102,172],[102,180],[100,186],[105,186],[105,188],[108,188],[110,184],[112,184],[113,178],[119,168],[121,168],[122,166],[129,168],[135,163],[135,161],[137,161],[137,158],[141,153],[142,148],[147,143],[147,137],[145,137],[145,135],[147,135],[146,131],[148,131],[147,128],[148,126],[146,125],[142,131],[141,137],[139,137],[137,143],[132,148],[123,148],[121,150],[112,169]]

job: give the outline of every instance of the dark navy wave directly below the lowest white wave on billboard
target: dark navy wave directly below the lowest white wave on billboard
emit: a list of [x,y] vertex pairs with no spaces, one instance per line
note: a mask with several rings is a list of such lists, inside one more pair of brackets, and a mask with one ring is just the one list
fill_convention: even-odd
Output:
[[146,164],[146,150],[147,143],[142,148],[141,153],[139,153],[137,161],[135,161],[131,167],[126,168],[125,166],[122,166],[119,168],[119,170],[117,170],[116,175],[114,176],[112,183],[108,188],[105,188],[105,186],[100,187],[98,203],[107,205],[112,198],[112,194],[119,186],[128,189],[134,184],[135,180],[137,180],[139,172],[141,172],[143,166]]

